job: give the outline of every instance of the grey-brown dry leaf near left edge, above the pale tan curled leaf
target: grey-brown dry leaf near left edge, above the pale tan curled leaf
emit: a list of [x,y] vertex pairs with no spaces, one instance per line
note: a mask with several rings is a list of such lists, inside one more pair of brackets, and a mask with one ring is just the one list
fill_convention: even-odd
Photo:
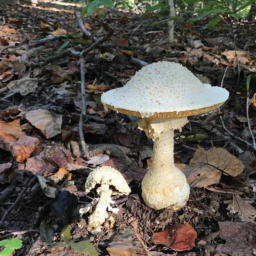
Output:
[[24,77],[19,80],[11,81],[7,87],[11,92],[19,92],[20,95],[25,96],[30,92],[35,92],[38,86],[37,78]]

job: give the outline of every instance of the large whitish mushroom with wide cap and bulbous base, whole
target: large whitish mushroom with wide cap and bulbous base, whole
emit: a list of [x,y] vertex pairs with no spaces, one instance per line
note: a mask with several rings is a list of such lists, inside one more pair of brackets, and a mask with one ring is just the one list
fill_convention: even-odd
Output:
[[154,141],[152,164],[142,180],[142,197],[150,208],[175,211],[186,204],[190,188],[174,165],[174,129],[181,130],[188,116],[219,108],[228,95],[224,88],[202,84],[182,65],[164,61],[102,94],[105,109],[142,117],[138,128]]

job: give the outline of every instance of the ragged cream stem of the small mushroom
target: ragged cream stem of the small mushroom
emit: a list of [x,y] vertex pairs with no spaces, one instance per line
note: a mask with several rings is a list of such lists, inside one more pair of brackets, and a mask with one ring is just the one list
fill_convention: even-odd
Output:
[[88,219],[88,230],[91,233],[98,233],[102,229],[102,224],[108,217],[107,208],[110,206],[112,190],[109,189],[109,184],[103,183],[97,188],[97,193],[100,196],[98,204],[94,212]]

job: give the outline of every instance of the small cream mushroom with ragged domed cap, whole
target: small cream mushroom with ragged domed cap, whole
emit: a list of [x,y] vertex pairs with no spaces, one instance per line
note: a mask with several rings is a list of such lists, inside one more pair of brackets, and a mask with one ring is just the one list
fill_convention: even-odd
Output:
[[85,183],[85,192],[91,190],[96,190],[100,196],[98,204],[88,220],[88,230],[95,234],[102,230],[102,224],[108,218],[107,209],[114,213],[119,211],[118,208],[110,206],[114,202],[111,196],[127,196],[131,190],[122,174],[110,166],[98,167],[90,172]]

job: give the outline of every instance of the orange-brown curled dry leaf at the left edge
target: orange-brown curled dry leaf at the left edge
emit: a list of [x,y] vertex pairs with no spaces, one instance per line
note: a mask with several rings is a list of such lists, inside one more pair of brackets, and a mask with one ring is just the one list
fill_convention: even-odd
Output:
[[20,120],[0,122],[0,148],[10,151],[17,162],[27,159],[39,144],[38,138],[22,132]]

